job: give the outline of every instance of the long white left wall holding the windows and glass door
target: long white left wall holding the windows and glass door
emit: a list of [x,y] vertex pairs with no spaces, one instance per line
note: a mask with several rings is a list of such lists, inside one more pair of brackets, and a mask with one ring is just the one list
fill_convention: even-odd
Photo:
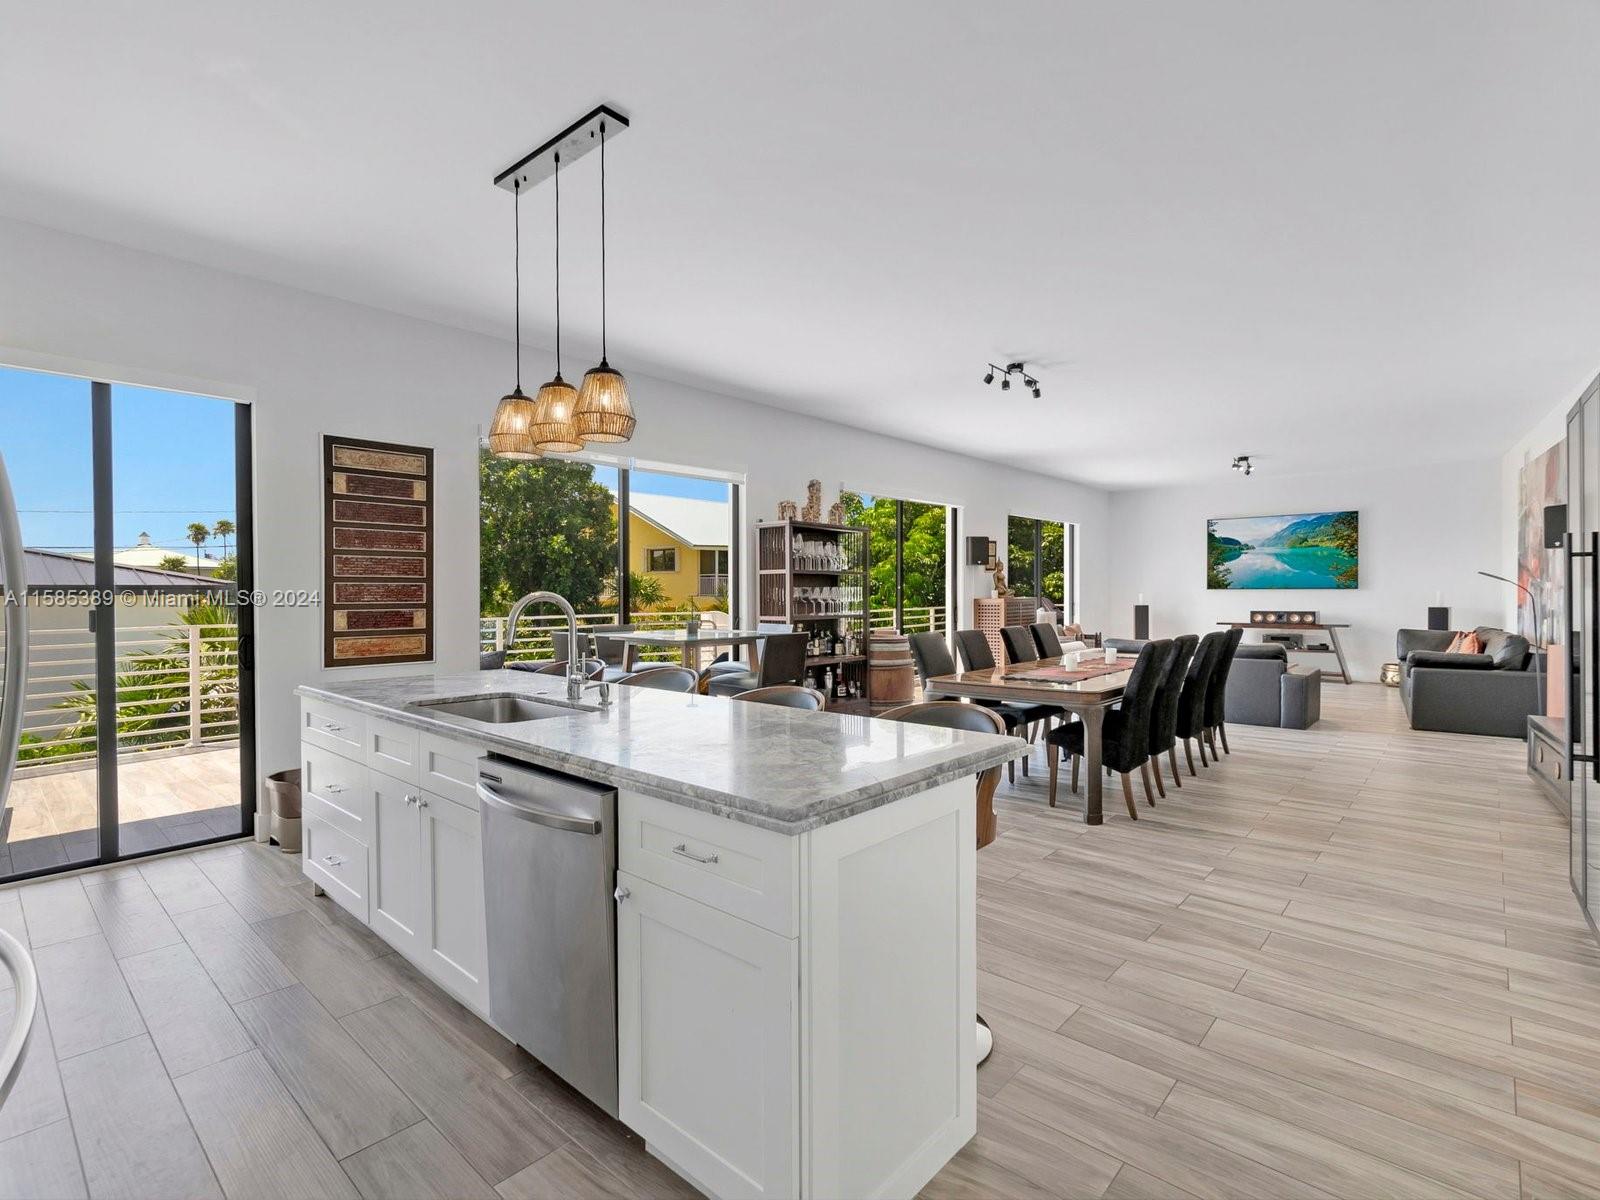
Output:
[[[477,437],[510,384],[507,342],[13,221],[0,221],[0,362],[253,402],[262,589],[322,586],[322,434],[434,446],[438,666],[475,667]],[[528,379],[550,370],[547,355],[526,355]],[[637,373],[629,379],[640,414],[630,453],[746,472],[747,520],[774,517],[779,499],[802,498],[818,477],[827,499],[843,480],[958,504],[963,536],[1002,546],[1010,510],[1077,522],[1085,619],[1101,621],[1106,493]],[[970,589],[987,576],[963,570],[960,579],[965,616]],[[262,611],[258,635],[259,768],[270,771],[298,755],[291,690],[325,674],[320,611]],[[338,674],[352,670],[416,669]]]

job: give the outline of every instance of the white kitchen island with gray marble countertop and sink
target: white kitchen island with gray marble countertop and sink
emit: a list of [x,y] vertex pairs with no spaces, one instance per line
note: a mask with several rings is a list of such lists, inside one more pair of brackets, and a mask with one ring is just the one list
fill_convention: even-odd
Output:
[[640,688],[574,706],[515,670],[298,693],[306,874],[491,1024],[485,862],[491,888],[507,867],[480,773],[614,789],[614,1112],[702,1190],[914,1195],[973,1136],[973,776],[1021,741]]

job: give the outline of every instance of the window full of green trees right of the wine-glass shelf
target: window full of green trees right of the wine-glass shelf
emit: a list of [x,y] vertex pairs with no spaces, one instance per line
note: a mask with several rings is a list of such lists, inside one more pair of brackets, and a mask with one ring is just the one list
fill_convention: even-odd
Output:
[[874,629],[941,634],[949,613],[950,510],[942,504],[840,493],[845,523],[869,530]]

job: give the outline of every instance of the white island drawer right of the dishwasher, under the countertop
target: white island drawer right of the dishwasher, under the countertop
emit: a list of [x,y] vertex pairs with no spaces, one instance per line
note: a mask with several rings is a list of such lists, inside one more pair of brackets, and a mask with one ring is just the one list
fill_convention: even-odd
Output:
[[667,800],[618,797],[618,867],[784,938],[798,936],[800,840]]

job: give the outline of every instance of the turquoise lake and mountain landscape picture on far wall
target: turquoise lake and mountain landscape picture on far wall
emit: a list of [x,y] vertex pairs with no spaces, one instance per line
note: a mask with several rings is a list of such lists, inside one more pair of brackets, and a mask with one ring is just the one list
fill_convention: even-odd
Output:
[[1360,514],[1218,517],[1205,523],[1205,549],[1211,590],[1355,587]]

